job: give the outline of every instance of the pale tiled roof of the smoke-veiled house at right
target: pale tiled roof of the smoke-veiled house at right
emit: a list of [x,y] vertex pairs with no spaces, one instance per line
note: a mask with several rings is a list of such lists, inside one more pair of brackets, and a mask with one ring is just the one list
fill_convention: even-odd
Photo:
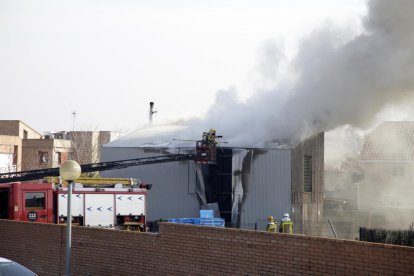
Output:
[[414,160],[414,122],[385,122],[365,138],[361,160]]

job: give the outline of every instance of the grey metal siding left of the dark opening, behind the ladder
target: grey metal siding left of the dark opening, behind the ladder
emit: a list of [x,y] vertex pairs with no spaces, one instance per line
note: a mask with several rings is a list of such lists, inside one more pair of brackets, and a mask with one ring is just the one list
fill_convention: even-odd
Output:
[[[103,147],[102,161],[163,155],[161,149]],[[132,177],[153,184],[148,192],[148,220],[198,217],[200,205],[196,191],[193,161],[180,161],[129,167],[102,172],[103,177]]]

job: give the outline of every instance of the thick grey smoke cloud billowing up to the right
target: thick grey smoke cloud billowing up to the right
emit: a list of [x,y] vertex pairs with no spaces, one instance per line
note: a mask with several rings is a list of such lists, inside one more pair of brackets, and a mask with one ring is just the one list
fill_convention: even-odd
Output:
[[[413,97],[412,14],[410,0],[369,1],[363,33],[339,43],[340,30],[326,26],[303,40],[288,65],[293,82],[282,79],[247,101],[237,98],[235,88],[219,91],[206,118],[186,124],[200,132],[214,127],[243,145],[295,143],[345,124],[368,126],[385,105]],[[267,75],[286,62],[275,45],[264,50]]]

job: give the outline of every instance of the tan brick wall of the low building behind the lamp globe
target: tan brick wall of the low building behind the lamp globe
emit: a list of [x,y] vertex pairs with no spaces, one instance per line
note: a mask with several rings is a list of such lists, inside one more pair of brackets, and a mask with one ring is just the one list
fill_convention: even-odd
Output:
[[22,170],[58,167],[72,151],[71,141],[60,139],[23,139],[22,146]]

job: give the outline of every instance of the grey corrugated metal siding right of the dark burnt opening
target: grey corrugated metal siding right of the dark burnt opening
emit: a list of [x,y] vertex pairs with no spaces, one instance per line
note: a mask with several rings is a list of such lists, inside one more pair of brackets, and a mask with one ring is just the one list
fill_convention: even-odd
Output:
[[253,150],[250,166],[243,185],[240,227],[253,229],[257,223],[263,230],[269,215],[279,221],[291,211],[291,150]]

